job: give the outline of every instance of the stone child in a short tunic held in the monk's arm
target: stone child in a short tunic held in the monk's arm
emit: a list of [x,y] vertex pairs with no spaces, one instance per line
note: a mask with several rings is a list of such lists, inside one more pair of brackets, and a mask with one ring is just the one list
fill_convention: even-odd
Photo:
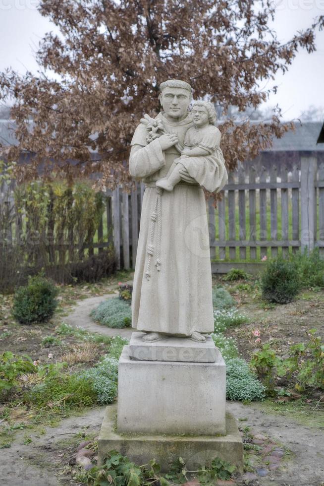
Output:
[[194,126],[186,133],[181,156],[174,160],[166,177],[159,179],[156,186],[172,191],[181,181],[180,170],[185,167],[189,175],[205,189],[213,192],[216,187],[218,192],[225,174],[224,158],[219,147],[220,131],[214,125],[214,105],[209,101],[195,102],[191,118]]

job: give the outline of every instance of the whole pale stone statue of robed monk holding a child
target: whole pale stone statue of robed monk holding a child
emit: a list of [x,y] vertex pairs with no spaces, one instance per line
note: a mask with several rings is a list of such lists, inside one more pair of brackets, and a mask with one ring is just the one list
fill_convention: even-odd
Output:
[[163,111],[145,115],[131,142],[130,174],[146,183],[132,326],[148,342],[165,335],[204,342],[214,318],[202,186],[219,191],[227,172],[214,106],[196,102],[189,113],[192,88],[184,81],[165,81],[160,90]]

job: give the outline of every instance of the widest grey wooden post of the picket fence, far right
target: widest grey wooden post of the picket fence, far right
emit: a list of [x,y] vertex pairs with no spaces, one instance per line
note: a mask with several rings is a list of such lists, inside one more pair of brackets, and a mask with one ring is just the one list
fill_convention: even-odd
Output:
[[301,248],[312,250],[316,240],[316,157],[301,157]]

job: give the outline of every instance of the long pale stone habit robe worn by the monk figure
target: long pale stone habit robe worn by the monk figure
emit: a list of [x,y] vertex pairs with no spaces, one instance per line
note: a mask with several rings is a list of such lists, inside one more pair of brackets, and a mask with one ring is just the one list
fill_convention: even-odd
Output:
[[[183,146],[190,115],[164,130]],[[159,139],[147,143],[140,124],[131,142],[130,174],[146,183],[132,295],[132,327],[138,331],[190,336],[214,332],[212,271],[206,201],[202,187],[179,182],[171,192],[155,187],[166,176],[176,148],[164,152]],[[223,164],[219,160],[219,164]],[[220,171],[224,174],[224,171]],[[225,170],[226,173],[226,170]],[[222,177],[215,189],[226,183]]]

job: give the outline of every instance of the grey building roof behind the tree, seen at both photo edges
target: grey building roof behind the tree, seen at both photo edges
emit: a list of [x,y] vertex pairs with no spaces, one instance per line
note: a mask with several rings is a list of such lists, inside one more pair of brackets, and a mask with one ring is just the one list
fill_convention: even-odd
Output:
[[[0,143],[2,145],[18,145],[14,129],[14,122],[0,120]],[[320,140],[320,138],[322,139]],[[295,124],[295,130],[289,130],[282,138],[274,138],[272,147],[264,152],[323,152],[324,145],[317,145],[321,142],[324,142],[324,124],[322,126],[321,122],[298,122]]]

